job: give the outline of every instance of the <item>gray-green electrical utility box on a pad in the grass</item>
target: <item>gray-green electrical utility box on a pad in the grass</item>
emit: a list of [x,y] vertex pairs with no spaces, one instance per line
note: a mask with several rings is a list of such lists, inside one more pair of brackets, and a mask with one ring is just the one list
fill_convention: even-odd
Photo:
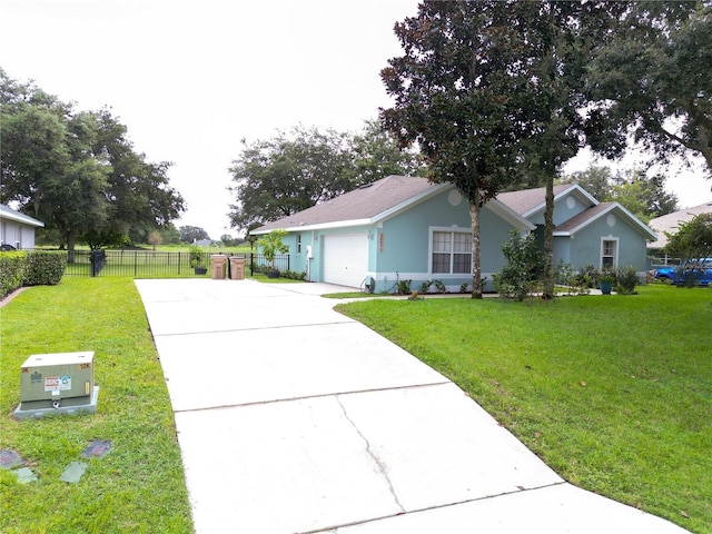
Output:
[[20,367],[19,417],[44,412],[96,412],[93,352],[36,354]]

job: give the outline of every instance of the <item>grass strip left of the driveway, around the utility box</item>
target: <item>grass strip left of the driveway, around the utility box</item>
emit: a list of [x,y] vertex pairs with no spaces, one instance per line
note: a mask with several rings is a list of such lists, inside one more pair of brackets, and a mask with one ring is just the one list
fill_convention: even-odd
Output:
[[[39,479],[0,469],[0,532],[190,533],[190,505],[158,355],[130,278],[63,278],[2,308],[0,448],[13,448]],[[19,368],[32,354],[93,350],[98,413],[17,421]],[[82,459],[91,439],[113,448]],[[59,481],[70,462],[81,481]]]

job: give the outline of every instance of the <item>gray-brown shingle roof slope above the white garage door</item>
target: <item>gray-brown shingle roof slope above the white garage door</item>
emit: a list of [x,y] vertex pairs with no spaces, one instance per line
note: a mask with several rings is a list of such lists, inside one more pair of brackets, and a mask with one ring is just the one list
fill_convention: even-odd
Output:
[[304,211],[268,222],[255,233],[277,228],[297,228],[353,220],[373,219],[397,207],[399,204],[443,186],[432,184],[427,178],[411,176],[387,176],[359,189],[346,192],[332,200],[317,204]]

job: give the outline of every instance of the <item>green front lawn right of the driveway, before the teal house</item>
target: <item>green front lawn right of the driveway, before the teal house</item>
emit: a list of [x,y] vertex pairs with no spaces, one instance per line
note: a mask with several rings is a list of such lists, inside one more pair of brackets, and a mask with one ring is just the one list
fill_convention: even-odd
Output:
[[453,379],[568,482],[712,532],[712,289],[337,309]]

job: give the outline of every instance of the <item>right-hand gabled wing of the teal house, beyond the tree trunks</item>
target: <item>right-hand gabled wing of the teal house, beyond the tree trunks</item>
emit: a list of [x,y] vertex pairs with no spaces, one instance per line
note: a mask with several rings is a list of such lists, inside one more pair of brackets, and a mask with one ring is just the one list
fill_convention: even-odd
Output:
[[[497,199],[536,226],[544,241],[545,188],[503,192]],[[647,269],[646,245],[656,235],[619,202],[599,202],[581,186],[554,187],[554,266]]]

